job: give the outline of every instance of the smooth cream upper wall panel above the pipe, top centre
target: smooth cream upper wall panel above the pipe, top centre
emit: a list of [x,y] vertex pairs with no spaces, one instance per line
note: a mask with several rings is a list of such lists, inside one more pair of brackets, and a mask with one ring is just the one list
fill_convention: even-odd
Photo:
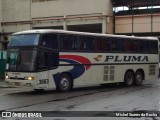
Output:
[[32,18],[103,13],[112,15],[110,0],[55,0],[32,3]]

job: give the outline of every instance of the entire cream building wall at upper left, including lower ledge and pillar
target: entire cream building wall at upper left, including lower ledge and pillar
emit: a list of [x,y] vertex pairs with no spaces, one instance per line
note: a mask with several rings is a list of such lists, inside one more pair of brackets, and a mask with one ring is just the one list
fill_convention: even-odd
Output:
[[[47,2],[35,2],[32,0],[2,0],[4,32],[17,32],[32,29],[34,27],[49,27],[81,24],[103,24],[104,33],[112,33],[112,2],[111,0],[54,0]],[[57,16],[86,16],[108,15],[111,18],[74,19],[61,21],[34,21],[33,24],[24,24],[21,21],[35,19],[47,19]],[[19,23],[17,23],[19,21]],[[106,23],[105,23],[106,21]],[[16,23],[14,23],[16,22]],[[105,30],[106,29],[106,30]]]

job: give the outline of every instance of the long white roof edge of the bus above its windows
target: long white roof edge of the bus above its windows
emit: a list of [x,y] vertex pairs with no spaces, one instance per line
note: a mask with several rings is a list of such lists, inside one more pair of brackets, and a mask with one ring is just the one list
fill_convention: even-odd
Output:
[[89,33],[89,32],[76,32],[76,31],[66,31],[66,30],[53,30],[53,29],[37,29],[37,30],[27,30],[14,33],[13,35],[20,34],[44,34],[44,33],[68,33],[68,34],[80,34],[80,35],[91,35],[91,36],[102,36],[102,37],[118,37],[118,38],[133,38],[133,39],[149,39],[158,40],[157,37],[137,37],[137,36],[126,36],[126,35],[114,35],[114,34],[100,34],[100,33]]

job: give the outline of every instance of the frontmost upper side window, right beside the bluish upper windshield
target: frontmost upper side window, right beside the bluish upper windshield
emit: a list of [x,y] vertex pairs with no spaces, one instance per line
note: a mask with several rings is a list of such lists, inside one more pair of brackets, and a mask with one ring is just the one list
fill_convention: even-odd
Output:
[[44,34],[42,36],[41,46],[51,48],[51,49],[58,49],[58,40],[56,34]]

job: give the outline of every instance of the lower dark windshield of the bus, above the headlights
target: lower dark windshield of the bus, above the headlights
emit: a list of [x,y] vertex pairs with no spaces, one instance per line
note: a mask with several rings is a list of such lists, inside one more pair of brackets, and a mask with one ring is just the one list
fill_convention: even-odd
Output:
[[29,72],[35,70],[36,50],[9,49],[7,53],[8,71]]

